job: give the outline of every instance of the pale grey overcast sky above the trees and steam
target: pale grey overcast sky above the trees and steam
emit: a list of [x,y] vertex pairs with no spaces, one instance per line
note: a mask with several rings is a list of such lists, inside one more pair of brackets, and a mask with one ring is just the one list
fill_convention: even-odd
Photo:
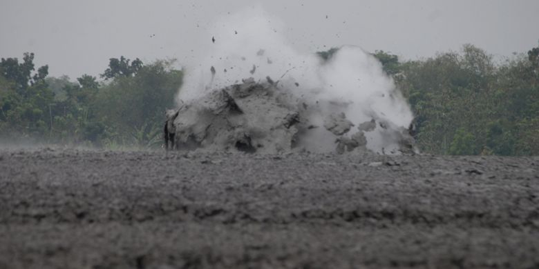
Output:
[[[0,57],[35,52],[52,76],[97,76],[108,59],[176,58],[183,65],[211,42],[217,17],[252,0],[0,0]],[[357,45],[403,57],[431,57],[472,43],[498,57],[538,46],[539,1],[410,0],[258,3],[286,25],[297,50]],[[327,16],[327,17],[326,17]]]

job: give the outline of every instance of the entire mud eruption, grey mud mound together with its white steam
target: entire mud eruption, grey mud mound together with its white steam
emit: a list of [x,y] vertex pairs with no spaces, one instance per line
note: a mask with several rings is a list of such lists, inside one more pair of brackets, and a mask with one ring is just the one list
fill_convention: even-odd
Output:
[[255,8],[212,29],[167,119],[178,149],[417,152],[413,114],[375,57],[355,46],[301,54],[277,21]]

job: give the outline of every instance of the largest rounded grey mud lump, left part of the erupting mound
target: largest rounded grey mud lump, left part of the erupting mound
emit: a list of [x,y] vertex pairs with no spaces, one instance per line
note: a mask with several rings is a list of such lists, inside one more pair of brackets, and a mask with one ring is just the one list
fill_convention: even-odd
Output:
[[248,79],[182,106],[173,121],[179,149],[275,153],[292,150],[299,109],[269,83]]

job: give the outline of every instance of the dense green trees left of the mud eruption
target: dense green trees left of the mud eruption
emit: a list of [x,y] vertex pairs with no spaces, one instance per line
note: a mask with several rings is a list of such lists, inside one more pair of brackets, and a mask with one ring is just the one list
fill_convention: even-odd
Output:
[[[110,59],[102,74],[106,83],[83,74],[47,77],[35,72],[34,54],[2,59],[0,65],[0,137],[9,141],[39,140],[62,145],[107,148],[160,146],[164,110],[183,73],[173,61],[144,65],[139,59]],[[34,74],[35,73],[35,74]]]

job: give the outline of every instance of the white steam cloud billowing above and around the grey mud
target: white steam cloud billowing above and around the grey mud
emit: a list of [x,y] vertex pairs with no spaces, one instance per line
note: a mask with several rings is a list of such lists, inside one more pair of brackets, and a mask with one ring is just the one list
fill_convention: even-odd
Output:
[[[376,152],[398,148],[395,130],[408,128],[413,114],[381,63],[357,46],[342,46],[328,61],[315,52],[299,52],[285,40],[284,24],[262,8],[231,14],[211,28],[211,49],[187,68],[178,103],[189,103],[242,79],[278,81],[301,102],[317,107],[310,121],[318,126],[328,114],[344,112],[354,126],[376,119],[366,132]],[[214,70],[215,72],[212,72]],[[384,128],[382,128],[384,126]],[[334,136],[318,128],[303,139],[311,151],[334,150]]]

